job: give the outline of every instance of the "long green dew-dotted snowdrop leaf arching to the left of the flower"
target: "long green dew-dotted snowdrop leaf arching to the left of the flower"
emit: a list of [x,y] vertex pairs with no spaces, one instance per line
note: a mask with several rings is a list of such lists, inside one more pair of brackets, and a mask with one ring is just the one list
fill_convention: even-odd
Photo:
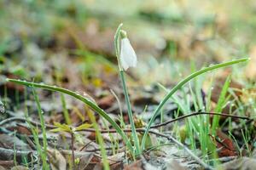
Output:
[[113,126],[113,128],[116,129],[117,133],[120,134],[122,139],[125,141],[125,144],[127,145],[128,149],[133,151],[131,142],[125,135],[124,131],[119,127],[119,125],[116,122],[114,122],[114,120],[110,116],[108,116],[107,112],[103,111],[98,105],[96,105],[94,102],[90,101],[90,99],[86,99],[84,96],[82,96],[78,93],[74,93],[73,91],[68,90],[66,88],[58,88],[55,86],[45,85],[43,83],[26,82],[26,81],[22,81],[22,80],[9,79],[9,78],[7,78],[6,81],[7,82],[15,82],[17,84],[21,84],[21,85],[25,85],[25,86],[29,86],[29,87],[43,88],[43,89],[47,89],[47,90],[54,91],[54,92],[61,92],[62,94],[68,94],[75,99],[79,99],[80,101],[84,102],[84,104],[89,105],[90,109],[92,109],[93,111],[96,111],[96,113],[98,113],[102,117],[104,117]]

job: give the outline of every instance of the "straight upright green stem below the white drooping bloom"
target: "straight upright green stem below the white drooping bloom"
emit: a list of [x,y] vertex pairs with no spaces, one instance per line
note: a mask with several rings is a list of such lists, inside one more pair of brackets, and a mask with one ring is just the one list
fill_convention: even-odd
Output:
[[124,90],[124,94],[125,94],[125,102],[126,102],[127,109],[128,109],[129,122],[131,124],[132,139],[134,140],[134,144],[135,144],[135,148],[136,148],[135,153],[138,156],[141,154],[140,143],[139,143],[139,139],[137,137],[136,127],[135,127],[133,116],[132,116],[131,103],[130,103],[129,94],[127,92],[127,87],[126,87],[126,83],[125,83],[125,74],[124,74],[124,71],[119,71],[119,73],[120,73],[123,90]]

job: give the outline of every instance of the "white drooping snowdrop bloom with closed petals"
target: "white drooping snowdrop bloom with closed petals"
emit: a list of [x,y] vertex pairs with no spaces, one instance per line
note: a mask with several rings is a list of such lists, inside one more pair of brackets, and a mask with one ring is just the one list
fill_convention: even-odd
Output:
[[137,55],[127,37],[121,39],[120,62],[125,71],[137,65]]

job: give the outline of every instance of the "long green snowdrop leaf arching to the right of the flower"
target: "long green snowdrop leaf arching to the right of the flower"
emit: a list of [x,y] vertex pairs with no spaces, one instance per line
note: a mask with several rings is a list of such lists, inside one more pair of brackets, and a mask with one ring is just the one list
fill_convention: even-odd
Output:
[[158,107],[154,111],[153,116],[151,117],[150,121],[148,122],[148,126],[146,127],[146,131],[143,134],[142,150],[144,150],[144,148],[145,148],[145,142],[146,142],[146,139],[147,139],[148,131],[149,131],[150,127],[152,126],[155,117],[159,115],[161,108],[166,104],[168,99],[170,99],[172,97],[172,94],[177,92],[177,90],[179,88],[182,88],[184,84],[186,84],[187,82],[189,82],[193,78],[195,78],[195,77],[197,77],[197,76],[199,76],[199,75],[201,75],[201,74],[203,74],[207,71],[212,71],[212,70],[215,70],[215,69],[218,69],[218,68],[221,68],[221,67],[225,67],[225,66],[228,66],[228,65],[235,65],[237,63],[245,62],[247,60],[248,60],[248,58],[242,58],[242,59],[236,59],[236,60],[232,60],[232,61],[229,61],[229,62],[221,63],[221,64],[218,64],[218,65],[212,65],[212,66],[209,66],[207,68],[203,68],[200,71],[196,71],[196,72],[192,73],[191,75],[189,75],[189,77],[184,78],[183,81],[178,82],[177,85],[174,88],[172,88],[172,90],[168,94],[166,94],[166,97],[160,102],[160,105],[158,105]]

